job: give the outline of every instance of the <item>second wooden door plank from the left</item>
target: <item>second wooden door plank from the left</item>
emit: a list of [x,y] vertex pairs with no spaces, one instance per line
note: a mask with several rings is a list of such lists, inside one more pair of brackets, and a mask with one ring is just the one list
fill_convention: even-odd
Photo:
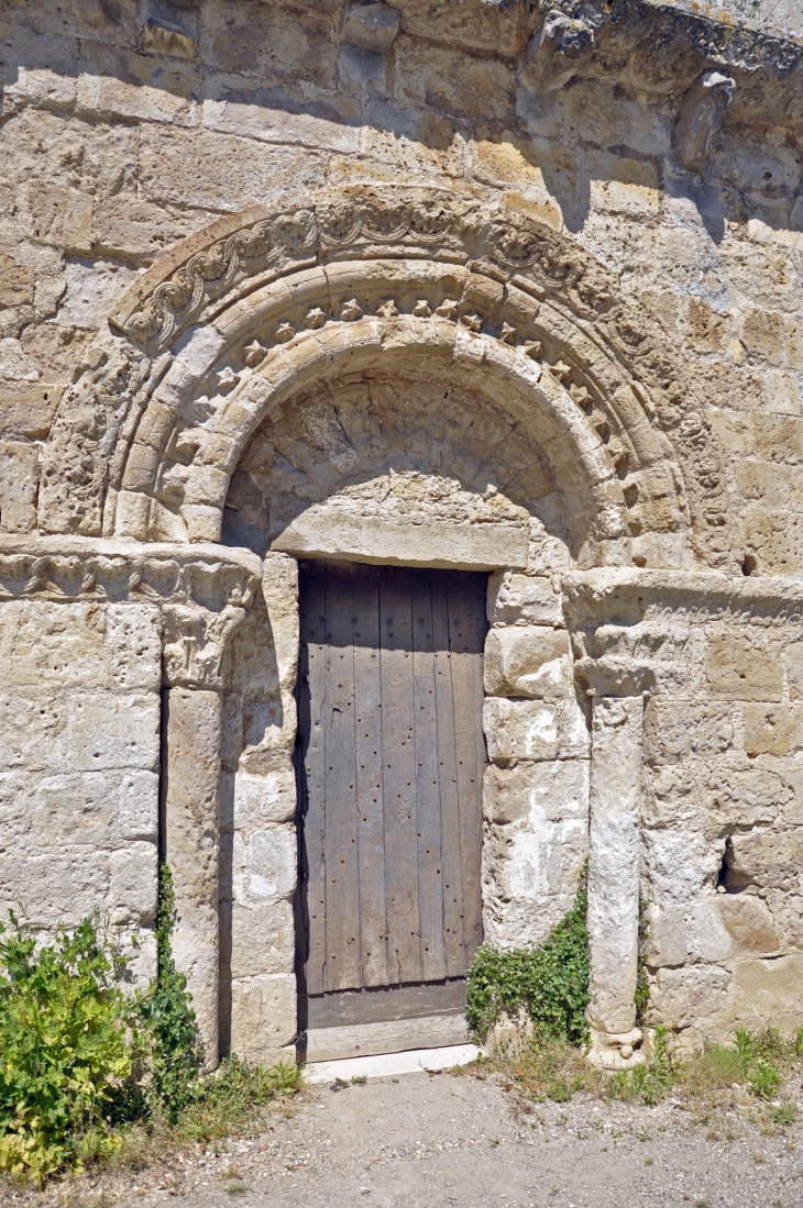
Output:
[[360,985],[352,568],[327,564],[327,989]]

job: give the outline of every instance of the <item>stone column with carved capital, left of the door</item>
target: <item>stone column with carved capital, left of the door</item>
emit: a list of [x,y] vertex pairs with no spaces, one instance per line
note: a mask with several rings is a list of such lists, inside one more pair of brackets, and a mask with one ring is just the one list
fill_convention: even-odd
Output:
[[162,858],[175,889],[173,954],[192,994],[207,1069],[219,1061],[220,669],[244,615],[232,605],[163,609]]

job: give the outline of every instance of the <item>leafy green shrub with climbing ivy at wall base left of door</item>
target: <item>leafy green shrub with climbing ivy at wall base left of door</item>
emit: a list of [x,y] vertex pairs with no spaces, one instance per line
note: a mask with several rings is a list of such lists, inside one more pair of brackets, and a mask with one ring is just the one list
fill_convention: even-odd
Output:
[[0,1172],[39,1185],[80,1172],[139,1136],[179,1143],[241,1131],[255,1110],[294,1093],[295,1067],[229,1057],[200,1074],[203,1051],[173,960],[175,904],[160,870],[157,975],[144,992],[97,916],[50,945],[11,913],[0,924]]

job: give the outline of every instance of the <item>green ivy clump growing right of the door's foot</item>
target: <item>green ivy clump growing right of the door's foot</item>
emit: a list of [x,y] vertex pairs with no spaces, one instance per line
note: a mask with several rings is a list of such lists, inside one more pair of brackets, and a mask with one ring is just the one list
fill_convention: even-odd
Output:
[[571,1045],[588,1041],[589,943],[583,873],[571,910],[542,945],[502,952],[483,945],[468,971],[467,1014],[481,1035],[503,1011],[524,1006],[536,1029]]

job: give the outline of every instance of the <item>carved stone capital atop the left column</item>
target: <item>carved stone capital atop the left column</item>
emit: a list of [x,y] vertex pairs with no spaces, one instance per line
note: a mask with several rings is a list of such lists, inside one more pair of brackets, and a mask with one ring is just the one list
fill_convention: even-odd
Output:
[[227,604],[210,612],[196,604],[167,604],[162,616],[166,686],[223,689],[226,644],[244,621],[245,609]]

